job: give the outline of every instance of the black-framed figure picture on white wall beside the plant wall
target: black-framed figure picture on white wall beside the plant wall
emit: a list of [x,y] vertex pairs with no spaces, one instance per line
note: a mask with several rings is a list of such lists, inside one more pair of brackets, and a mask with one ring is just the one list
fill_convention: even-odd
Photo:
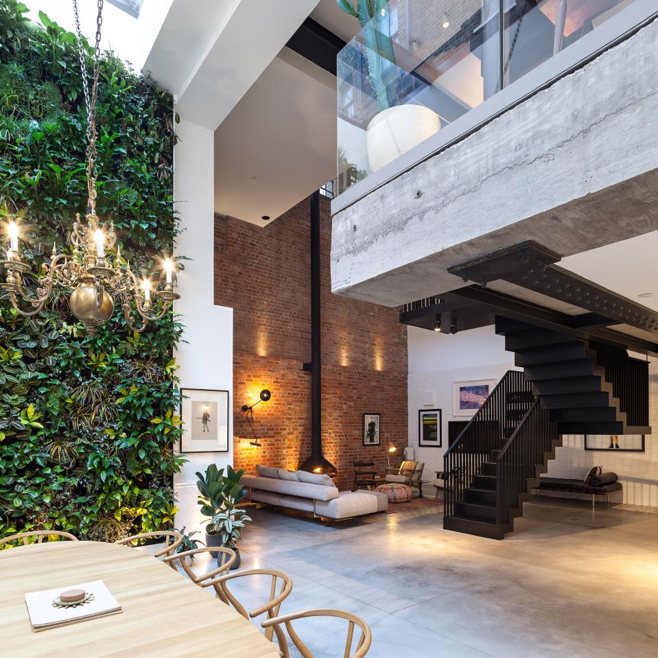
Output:
[[228,452],[228,391],[180,389],[181,452]]

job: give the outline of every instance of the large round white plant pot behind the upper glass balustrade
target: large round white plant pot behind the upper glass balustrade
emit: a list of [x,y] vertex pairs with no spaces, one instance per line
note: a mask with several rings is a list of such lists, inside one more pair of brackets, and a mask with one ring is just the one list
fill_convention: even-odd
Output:
[[366,128],[371,172],[376,172],[441,129],[438,115],[423,105],[399,105],[382,110]]

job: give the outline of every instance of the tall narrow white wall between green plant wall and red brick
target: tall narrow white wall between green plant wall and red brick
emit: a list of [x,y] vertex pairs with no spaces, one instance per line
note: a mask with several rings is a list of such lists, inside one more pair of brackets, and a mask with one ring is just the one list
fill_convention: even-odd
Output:
[[220,468],[233,462],[233,309],[214,301],[213,131],[183,119],[176,132],[174,197],[183,231],[176,254],[190,259],[178,272],[175,307],[186,327],[176,354],[180,386],[229,392],[228,452],[189,454],[176,475],[178,507],[186,511],[196,508],[194,473],[211,462]]

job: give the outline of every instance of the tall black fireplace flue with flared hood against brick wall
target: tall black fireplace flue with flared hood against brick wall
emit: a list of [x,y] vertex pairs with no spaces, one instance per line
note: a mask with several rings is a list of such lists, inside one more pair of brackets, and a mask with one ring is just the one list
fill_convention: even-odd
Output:
[[311,456],[300,471],[327,473],[335,477],[336,467],[322,456],[322,354],[320,351],[320,191],[311,195]]

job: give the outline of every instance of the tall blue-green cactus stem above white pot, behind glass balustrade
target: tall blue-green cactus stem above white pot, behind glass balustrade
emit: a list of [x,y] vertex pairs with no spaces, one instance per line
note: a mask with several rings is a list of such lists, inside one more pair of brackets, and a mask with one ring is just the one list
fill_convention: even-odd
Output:
[[[395,51],[390,35],[380,30],[381,16],[386,16],[388,0],[336,0],[346,14],[358,19],[365,43],[364,55],[368,65],[368,80],[375,92],[379,112],[398,104]],[[384,12],[384,14],[382,14]],[[390,62],[390,64],[389,64]],[[391,72],[393,79],[390,80]]]

